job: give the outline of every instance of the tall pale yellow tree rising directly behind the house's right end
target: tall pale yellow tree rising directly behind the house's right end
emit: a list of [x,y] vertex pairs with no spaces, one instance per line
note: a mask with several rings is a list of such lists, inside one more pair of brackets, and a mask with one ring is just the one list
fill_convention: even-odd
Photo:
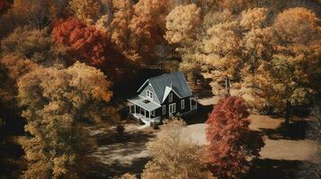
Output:
[[201,25],[201,9],[195,4],[180,4],[166,16],[165,25],[165,39],[183,57],[180,70],[197,84],[201,67],[194,52],[200,46],[197,27]]

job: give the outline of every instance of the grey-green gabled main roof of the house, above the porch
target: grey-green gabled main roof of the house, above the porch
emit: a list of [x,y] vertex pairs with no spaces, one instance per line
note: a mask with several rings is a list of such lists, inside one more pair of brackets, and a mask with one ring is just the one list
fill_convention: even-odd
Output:
[[161,102],[164,101],[164,98],[166,98],[165,96],[168,95],[170,90],[174,90],[180,98],[192,96],[192,92],[187,85],[183,72],[165,73],[160,76],[150,78],[144,82],[144,84],[138,89],[138,92],[143,90],[148,81],[155,90],[156,97]]

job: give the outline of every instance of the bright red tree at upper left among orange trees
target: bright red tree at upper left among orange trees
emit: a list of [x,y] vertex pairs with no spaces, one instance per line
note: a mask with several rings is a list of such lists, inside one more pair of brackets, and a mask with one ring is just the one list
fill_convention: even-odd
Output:
[[55,21],[52,37],[56,43],[70,47],[70,53],[76,60],[92,65],[100,65],[107,60],[110,41],[107,35],[74,17]]

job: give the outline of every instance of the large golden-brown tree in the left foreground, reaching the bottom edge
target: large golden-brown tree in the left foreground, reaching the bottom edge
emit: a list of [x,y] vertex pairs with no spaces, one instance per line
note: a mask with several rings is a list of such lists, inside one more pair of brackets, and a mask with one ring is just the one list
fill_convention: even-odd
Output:
[[97,122],[111,99],[103,72],[76,63],[67,69],[42,68],[18,81],[24,129],[20,143],[28,161],[23,178],[76,178],[93,149],[85,123]]

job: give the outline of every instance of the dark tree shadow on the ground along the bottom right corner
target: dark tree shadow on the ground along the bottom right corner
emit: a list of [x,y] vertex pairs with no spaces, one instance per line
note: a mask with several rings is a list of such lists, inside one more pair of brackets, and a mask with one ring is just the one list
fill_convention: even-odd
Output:
[[[316,164],[309,162],[258,158],[254,159],[253,164],[244,179],[317,179],[317,177],[311,174]],[[308,171],[306,167],[308,167],[310,171]]]

